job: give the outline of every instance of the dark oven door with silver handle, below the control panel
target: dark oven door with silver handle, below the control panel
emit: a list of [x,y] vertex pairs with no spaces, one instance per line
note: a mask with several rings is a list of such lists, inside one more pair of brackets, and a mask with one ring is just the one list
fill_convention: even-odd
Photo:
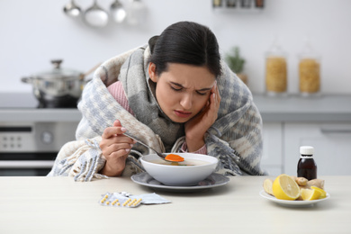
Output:
[[58,152],[0,153],[0,176],[45,176]]

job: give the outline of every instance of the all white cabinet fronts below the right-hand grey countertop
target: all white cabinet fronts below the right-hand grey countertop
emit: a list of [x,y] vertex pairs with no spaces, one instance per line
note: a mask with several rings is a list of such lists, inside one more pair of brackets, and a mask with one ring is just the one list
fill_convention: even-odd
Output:
[[351,121],[264,122],[261,166],[269,175],[296,175],[301,146],[315,148],[318,175],[351,175]]

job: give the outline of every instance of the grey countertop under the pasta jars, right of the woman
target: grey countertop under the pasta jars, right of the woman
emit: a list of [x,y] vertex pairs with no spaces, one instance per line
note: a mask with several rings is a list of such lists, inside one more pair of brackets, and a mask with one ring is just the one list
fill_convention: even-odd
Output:
[[351,121],[351,95],[283,97],[254,94],[254,102],[267,121]]

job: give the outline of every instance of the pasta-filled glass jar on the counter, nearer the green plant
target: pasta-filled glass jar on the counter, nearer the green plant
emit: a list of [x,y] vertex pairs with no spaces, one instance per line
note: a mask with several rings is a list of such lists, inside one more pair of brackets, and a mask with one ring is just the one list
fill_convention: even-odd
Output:
[[266,53],[266,93],[286,94],[287,82],[286,53],[275,42]]

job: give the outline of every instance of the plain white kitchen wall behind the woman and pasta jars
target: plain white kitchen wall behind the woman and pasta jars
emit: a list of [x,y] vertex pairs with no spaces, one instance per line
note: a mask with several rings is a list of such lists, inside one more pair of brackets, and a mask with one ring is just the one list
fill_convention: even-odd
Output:
[[[63,58],[63,67],[86,71],[146,43],[169,24],[188,20],[208,25],[222,53],[240,47],[254,93],[265,90],[265,52],[278,35],[289,54],[289,93],[298,92],[297,54],[309,36],[322,56],[322,92],[351,94],[349,0],[266,0],[260,13],[213,11],[211,0],[143,0],[148,6],[143,28],[111,23],[103,29],[89,28],[63,14],[69,1],[0,1],[0,92],[31,92],[31,85],[23,84],[21,77],[51,68],[52,58]],[[93,0],[76,3],[85,9]],[[98,3],[107,8],[112,0]]]

